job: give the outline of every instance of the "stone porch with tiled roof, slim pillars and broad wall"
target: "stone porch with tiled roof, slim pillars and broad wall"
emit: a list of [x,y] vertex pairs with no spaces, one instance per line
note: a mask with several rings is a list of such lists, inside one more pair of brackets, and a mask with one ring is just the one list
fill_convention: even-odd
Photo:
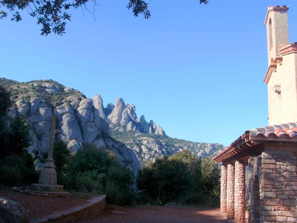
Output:
[[247,196],[249,223],[297,222],[297,122],[248,130],[213,160],[227,219],[245,223]]

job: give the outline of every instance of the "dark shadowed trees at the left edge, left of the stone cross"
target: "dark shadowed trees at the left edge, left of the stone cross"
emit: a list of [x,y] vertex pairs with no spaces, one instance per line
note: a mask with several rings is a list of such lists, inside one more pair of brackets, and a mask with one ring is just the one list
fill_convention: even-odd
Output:
[[0,184],[35,183],[38,174],[26,148],[30,145],[29,125],[25,116],[5,116],[11,105],[10,93],[0,85]]

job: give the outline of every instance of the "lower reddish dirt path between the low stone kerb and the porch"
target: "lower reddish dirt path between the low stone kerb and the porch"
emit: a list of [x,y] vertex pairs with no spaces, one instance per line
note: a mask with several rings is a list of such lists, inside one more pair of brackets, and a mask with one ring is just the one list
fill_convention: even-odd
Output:
[[[111,214],[113,211],[125,214]],[[228,223],[219,209],[176,206],[106,206],[102,215],[81,223]]]

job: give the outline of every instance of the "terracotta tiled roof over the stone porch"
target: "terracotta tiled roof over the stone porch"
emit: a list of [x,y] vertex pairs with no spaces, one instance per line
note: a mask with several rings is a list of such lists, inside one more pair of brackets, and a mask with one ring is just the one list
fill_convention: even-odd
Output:
[[252,140],[269,139],[286,139],[296,138],[297,139],[297,122],[270,125],[266,127],[253,128],[245,131],[245,133],[231,143],[221,153],[216,155],[213,160],[215,162],[222,162],[235,154],[242,151],[242,147],[251,148],[253,146]]

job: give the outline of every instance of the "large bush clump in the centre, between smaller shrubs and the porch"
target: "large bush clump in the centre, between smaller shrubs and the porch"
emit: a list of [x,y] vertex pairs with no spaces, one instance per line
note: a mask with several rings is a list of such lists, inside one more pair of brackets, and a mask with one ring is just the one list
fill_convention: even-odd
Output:
[[216,206],[219,200],[219,167],[210,159],[198,159],[189,150],[157,159],[140,170],[137,187],[155,205]]

